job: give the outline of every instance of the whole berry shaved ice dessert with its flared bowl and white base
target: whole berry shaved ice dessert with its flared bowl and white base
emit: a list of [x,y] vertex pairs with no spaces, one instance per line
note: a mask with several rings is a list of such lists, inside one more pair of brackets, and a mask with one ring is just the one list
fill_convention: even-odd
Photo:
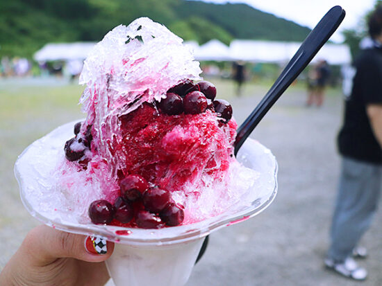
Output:
[[117,26],[85,60],[86,117],[19,156],[26,209],[53,228],[115,244],[117,286],[185,285],[206,235],[272,203],[276,161],[248,139],[233,154],[229,102],[165,26]]

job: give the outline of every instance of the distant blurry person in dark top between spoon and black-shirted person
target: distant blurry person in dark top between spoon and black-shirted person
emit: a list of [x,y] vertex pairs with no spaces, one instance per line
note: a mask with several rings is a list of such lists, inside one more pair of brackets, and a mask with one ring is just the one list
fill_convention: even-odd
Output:
[[330,74],[331,70],[329,69],[329,64],[326,60],[319,60],[315,68],[309,72],[307,106],[313,104],[317,107],[322,106]]

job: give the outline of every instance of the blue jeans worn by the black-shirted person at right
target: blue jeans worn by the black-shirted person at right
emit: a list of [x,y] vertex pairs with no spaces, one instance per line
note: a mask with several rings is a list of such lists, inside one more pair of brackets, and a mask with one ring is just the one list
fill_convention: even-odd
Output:
[[328,257],[344,261],[367,231],[381,193],[382,166],[342,159]]

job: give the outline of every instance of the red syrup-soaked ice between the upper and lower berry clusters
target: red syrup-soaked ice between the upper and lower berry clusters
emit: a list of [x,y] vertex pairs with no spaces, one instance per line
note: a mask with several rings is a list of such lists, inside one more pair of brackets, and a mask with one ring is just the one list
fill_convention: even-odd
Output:
[[234,120],[219,124],[215,111],[167,115],[144,103],[119,117],[121,140],[109,145],[115,157],[124,159],[122,172],[141,175],[170,192],[182,189],[201,172],[215,178],[229,168]]

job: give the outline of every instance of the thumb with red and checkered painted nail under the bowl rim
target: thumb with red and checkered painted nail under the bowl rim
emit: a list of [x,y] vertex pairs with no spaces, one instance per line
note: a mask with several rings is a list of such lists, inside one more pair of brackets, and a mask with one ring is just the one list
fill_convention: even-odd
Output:
[[[114,243],[106,240],[94,240],[85,235],[58,231],[49,226],[41,225],[32,229],[24,242],[22,249],[28,252],[35,265],[47,265],[57,258],[76,258],[87,262],[101,262],[113,253]],[[97,245],[98,244],[98,245]],[[97,251],[97,250],[98,251]]]

